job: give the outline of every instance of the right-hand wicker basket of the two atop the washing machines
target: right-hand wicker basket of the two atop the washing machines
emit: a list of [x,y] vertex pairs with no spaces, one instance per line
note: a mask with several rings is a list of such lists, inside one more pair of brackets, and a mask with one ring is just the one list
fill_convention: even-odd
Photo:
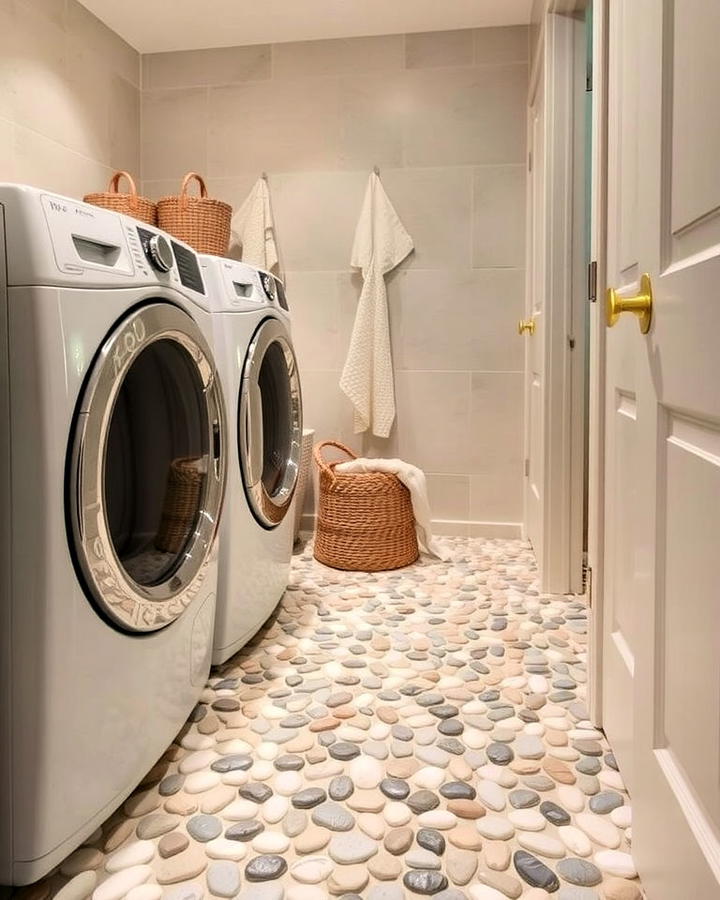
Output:
[[[191,197],[188,186],[197,181],[200,196]],[[177,197],[158,200],[158,226],[189,244],[198,253],[227,256],[230,246],[232,206],[207,195],[202,176],[188,172]]]

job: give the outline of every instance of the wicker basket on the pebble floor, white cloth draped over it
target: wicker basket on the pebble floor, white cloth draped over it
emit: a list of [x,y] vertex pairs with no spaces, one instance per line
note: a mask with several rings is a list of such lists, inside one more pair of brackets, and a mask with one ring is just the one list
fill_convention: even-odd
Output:
[[315,559],[335,569],[377,572],[409,566],[418,558],[410,492],[395,475],[336,472],[323,457],[344,444],[324,441],[315,447],[320,471]]

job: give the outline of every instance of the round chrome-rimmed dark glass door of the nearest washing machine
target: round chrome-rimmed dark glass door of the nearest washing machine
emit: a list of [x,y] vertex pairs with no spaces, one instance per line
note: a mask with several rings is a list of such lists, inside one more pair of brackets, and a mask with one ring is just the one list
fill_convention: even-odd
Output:
[[76,418],[69,518],[89,593],[127,630],[162,628],[205,577],[225,483],[220,386],[190,316],[153,303],[122,321]]

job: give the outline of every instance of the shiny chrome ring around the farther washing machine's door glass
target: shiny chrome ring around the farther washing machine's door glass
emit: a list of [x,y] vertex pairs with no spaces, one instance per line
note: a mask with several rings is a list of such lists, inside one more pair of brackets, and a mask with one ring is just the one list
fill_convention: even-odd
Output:
[[[290,452],[280,487],[265,489],[263,470],[262,395],[260,368],[268,349],[278,344],[285,358],[290,389]],[[256,519],[264,528],[275,528],[287,515],[297,485],[302,448],[302,394],[297,361],[288,331],[279,319],[264,319],[258,326],[245,357],[238,415],[238,448],[243,482]]]

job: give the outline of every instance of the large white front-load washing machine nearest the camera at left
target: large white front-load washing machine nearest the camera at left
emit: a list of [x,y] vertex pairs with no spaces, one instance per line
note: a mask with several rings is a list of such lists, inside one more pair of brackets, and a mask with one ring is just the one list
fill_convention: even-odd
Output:
[[226,471],[196,254],[0,185],[0,883],[46,874],[205,684]]

